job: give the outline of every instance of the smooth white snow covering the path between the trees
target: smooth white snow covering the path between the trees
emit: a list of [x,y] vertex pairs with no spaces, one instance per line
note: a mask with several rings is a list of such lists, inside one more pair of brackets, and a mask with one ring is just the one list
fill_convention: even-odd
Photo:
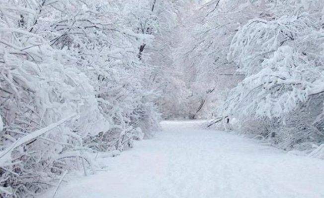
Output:
[[101,159],[107,171],[63,183],[55,198],[324,198],[324,160],[198,124],[163,122],[154,139]]

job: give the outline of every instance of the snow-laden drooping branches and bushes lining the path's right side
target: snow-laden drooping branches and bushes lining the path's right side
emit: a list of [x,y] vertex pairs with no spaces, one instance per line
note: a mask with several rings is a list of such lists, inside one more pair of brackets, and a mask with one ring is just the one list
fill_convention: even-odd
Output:
[[232,40],[228,58],[246,77],[231,91],[226,114],[281,148],[311,149],[324,141],[324,3],[264,7],[268,17],[251,19]]

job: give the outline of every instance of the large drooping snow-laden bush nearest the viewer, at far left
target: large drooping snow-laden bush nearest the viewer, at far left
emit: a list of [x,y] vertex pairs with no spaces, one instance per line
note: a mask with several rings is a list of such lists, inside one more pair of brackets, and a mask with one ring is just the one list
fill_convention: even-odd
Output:
[[[1,197],[23,197],[48,187],[69,167],[66,160],[80,154],[76,148],[82,147],[83,137],[109,127],[75,58],[29,31],[27,16],[36,12],[19,5],[1,2]],[[52,125],[58,126],[47,128]],[[39,137],[42,130],[47,133]]]

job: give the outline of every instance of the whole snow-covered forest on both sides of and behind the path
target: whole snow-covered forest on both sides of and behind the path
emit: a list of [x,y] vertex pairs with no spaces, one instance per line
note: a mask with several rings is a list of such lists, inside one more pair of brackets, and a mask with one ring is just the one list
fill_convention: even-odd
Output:
[[92,174],[161,120],[324,158],[323,107],[323,0],[0,1],[0,198]]

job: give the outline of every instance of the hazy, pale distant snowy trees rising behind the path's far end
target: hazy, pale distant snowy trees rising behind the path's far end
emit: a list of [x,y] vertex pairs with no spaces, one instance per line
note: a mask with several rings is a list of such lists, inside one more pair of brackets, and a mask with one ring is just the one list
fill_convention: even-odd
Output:
[[181,97],[181,105],[177,105],[181,109],[173,109],[182,117],[220,116],[216,109],[228,91],[243,79],[227,54],[239,24],[261,12],[251,5],[245,0],[208,0],[188,3],[184,9],[183,27],[178,33],[180,43],[173,55],[175,75],[181,76],[177,80],[182,81],[178,82],[181,91],[176,93],[182,92],[177,97]]

